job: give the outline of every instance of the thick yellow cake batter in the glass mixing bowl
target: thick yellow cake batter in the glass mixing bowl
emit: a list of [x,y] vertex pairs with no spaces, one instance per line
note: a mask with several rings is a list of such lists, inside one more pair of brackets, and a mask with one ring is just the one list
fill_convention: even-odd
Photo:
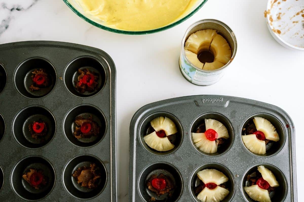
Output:
[[105,25],[146,31],[178,20],[197,0],[75,0],[85,13]]

